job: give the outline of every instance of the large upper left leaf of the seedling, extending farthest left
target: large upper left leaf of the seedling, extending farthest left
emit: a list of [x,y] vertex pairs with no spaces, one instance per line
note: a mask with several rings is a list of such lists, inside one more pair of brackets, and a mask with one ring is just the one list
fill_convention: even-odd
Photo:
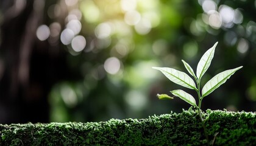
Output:
[[172,68],[153,67],[153,69],[161,71],[167,78],[169,78],[169,80],[180,86],[196,90],[196,85],[194,84],[193,79],[190,76],[188,76],[185,72],[177,71],[176,69]]

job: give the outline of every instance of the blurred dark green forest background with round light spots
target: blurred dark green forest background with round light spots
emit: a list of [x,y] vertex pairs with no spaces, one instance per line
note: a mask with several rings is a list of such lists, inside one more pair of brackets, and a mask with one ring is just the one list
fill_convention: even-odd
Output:
[[190,105],[178,97],[157,99],[181,87],[152,66],[187,72],[183,59],[195,71],[216,41],[202,85],[244,68],[202,109],[255,111],[255,10],[249,0],[1,0],[0,123],[181,112]]

